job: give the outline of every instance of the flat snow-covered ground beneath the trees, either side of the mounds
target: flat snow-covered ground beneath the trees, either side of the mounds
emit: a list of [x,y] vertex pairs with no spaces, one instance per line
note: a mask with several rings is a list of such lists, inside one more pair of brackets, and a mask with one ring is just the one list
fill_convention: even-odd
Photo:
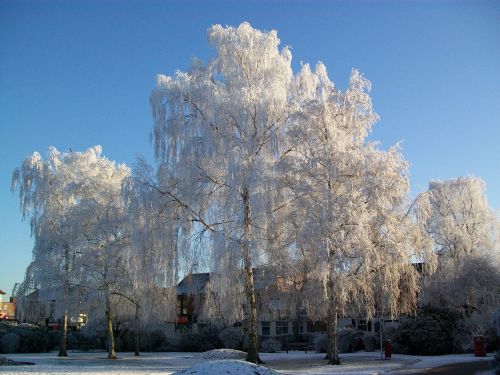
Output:
[[[393,355],[390,361],[381,360],[376,352],[358,352],[342,354],[343,365],[328,366],[323,360],[324,354],[303,352],[290,353],[262,353],[261,359],[265,367],[274,369],[280,374],[298,375],[375,375],[375,374],[411,374],[422,372],[425,369],[438,367],[451,363],[491,360],[476,358],[472,354],[446,355],[437,357]],[[207,363],[196,353],[144,353],[134,357],[133,353],[119,353],[118,360],[107,360],[104,352],[70,352],[69,357],[59,358],[57,352],[37,354],[9,354],[9,358],[16,361],[34,362],[33,366],[0,366],[1,374],[99,374],[99,375],[147,375],[147,374],[173,374],[176,371],[187,369],[191,366]],[[214,356],[220,357],[220,356]],[[229,364],[228,364],[229,365]],[[213,364],[209,367],[214,366]],[[244,372],[238,366],[238,375]],[[205,366],[206,369],[206,366]],[[207,370],[208,371],[208,370]],[[215,374],[221,372],[202,372]],[[200,373],[200,372],[199,372]],[[226,372],[227,373],[227,372]],[[230,374],[231,372],[229,372]]]

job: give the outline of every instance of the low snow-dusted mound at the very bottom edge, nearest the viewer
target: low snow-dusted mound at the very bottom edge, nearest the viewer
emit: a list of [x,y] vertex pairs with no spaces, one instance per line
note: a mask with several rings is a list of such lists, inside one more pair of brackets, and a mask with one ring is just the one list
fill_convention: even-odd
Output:
[[278,375],[279,372],[257,366],[253,363],[237,360],[220,360],[199,363],[185,370],[174,372],[174,375]]

